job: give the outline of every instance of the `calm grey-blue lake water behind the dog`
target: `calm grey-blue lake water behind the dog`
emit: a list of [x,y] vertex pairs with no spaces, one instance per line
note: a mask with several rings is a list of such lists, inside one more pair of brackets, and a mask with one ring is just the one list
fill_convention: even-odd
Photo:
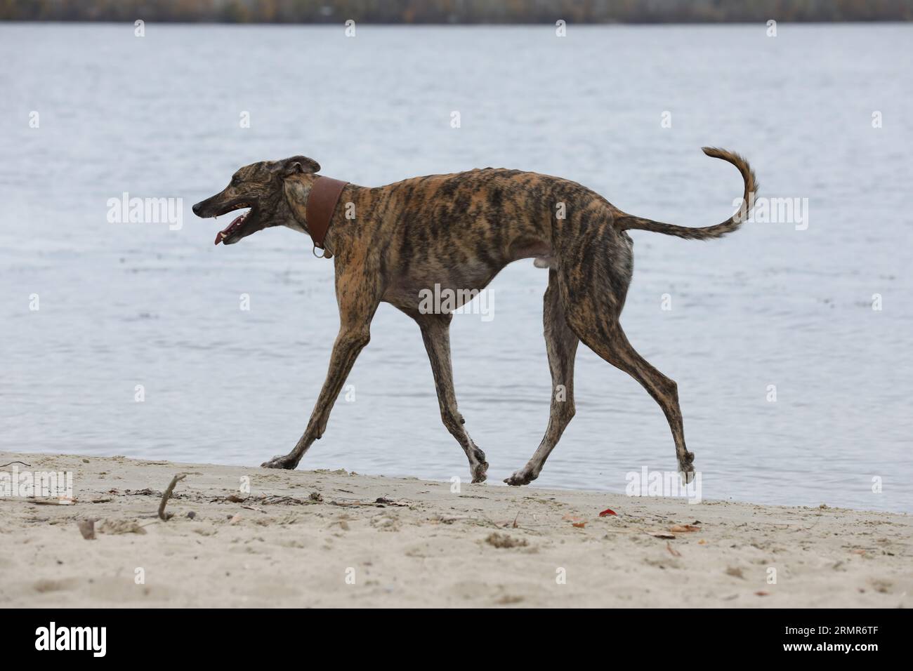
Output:
[[[911,511],[911,58],[893,25],[0,25],[0,449],[257,465],[295,444],[338,327],[332,266],[286,229],[213,246],[227,220],[190,207],[243,164],[303,153],[366,185],[516,167],[709,225],[741,193],[709,144],[745,154],[761,195],[808,201],[804,230],[632,233],[622,322],[678,383],[703,497]],[[124,192],[183,198],[183,226],[109,223]],[[494,319],[454,320],[492,486],[548,419],[547,275],[513,264]],[[397,310],[349,383],[300,467],[467,477]],[[676,468],[658,406],[585,348],[576,395],[534,487]]]

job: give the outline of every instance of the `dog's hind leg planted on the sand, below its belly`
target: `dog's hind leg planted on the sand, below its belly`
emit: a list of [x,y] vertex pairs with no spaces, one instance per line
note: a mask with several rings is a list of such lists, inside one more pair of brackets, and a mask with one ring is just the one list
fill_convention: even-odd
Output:
[[545,326],[545,349],[551,369],[551,412],[549,426],[529,463],[504,481],[509,485],[526,485],[539,477],[545,460],[558,444],[564,429],[574,415],[573,362],[580,340],[564,319],[564,308],[558,289],[558,273],[549,271],[549,288],[545,290],[542,320]]

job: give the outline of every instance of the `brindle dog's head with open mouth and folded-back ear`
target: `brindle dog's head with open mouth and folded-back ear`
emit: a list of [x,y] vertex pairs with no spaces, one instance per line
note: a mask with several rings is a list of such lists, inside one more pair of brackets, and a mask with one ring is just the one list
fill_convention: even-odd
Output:
[[286,225],[302,230],[289,206],[286,182],[295,178],[296,189],[300,190],[300,177],[319,170],[320,163],[307,156],[251,163],[232,175],[231,182],[221,192],[195,204],[194,215],[209,217],[247,210],[215,236],[216,245],[220,242],[234,245],[242,237],[269,226]]

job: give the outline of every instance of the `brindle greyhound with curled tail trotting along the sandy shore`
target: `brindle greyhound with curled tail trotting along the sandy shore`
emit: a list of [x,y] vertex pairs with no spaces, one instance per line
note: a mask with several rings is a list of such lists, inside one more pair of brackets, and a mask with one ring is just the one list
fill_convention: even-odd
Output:
[[[677,385],[641,357],[624,336],[619,315],[633,271],[628,229],[708,239],[736,230],[748,216],[754,173],[738,154],[704,148],[708,156],[735,165],[745,183],[740,210],[718,225],[688,228],[627,215],[581,184],[519,170],[486,168],[468,173],[415,177],[380,187],[345,184],[341,203],[333,200],[329,231],[315,244],[336,257],[336,299],[340,330],[320,398],[298,445],[275,456],[268,468],[294,468],[315,439],[323,435],[330,411],[359,352],[370,339],[370,325],[381,301],[415,320],[435,376],[441,418],[469,459],[472,481],[486,479],[485,453],[473,442],[456,409],[450,367],[451,314],[425,314],[420,290],[439,284],[456,296],[481,290],[501,268],[534,257],[550,267],[545,291],[545,343],[553,389],[551,415],[539,448],[529,463],[505,482],[526,485],[542,465],[574,415],[573,364],[583,341],[605,361],[635,378],[666,414],[676,444],[678,468],[686,480],[694,472],[678,407]],[[314,235],[308,199],[322,179],[320,165],[305,156],[252,163],[238,170],[224,191],[194,205],[201,217],[249,207],[216,237],[232,245],[268,226],[285,225]],[[331,180],[329,182],[332,182]],[[339,183],[340,186],[342,183]],[[318,189],[314,189],[315,194]],[[315,201],[317,198],[315,197]],[[354,217],[352,218],[352,214]],[[331,219],[330,219],[331,217]],[[316,218],[316,217],[315,217]]]

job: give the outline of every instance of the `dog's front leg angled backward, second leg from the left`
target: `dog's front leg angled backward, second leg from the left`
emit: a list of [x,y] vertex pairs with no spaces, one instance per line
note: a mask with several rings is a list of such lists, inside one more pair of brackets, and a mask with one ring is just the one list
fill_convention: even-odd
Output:
[[454,376],[450,365],[450,314],[418,314],[415,321],[422,330],[422,340],[435,376],[437,403],[447,431],[459,442],[469,460],[473,482],[483,482],[488,471],[485,453],[472,441],[464,427],[463,415],[456,409]]

